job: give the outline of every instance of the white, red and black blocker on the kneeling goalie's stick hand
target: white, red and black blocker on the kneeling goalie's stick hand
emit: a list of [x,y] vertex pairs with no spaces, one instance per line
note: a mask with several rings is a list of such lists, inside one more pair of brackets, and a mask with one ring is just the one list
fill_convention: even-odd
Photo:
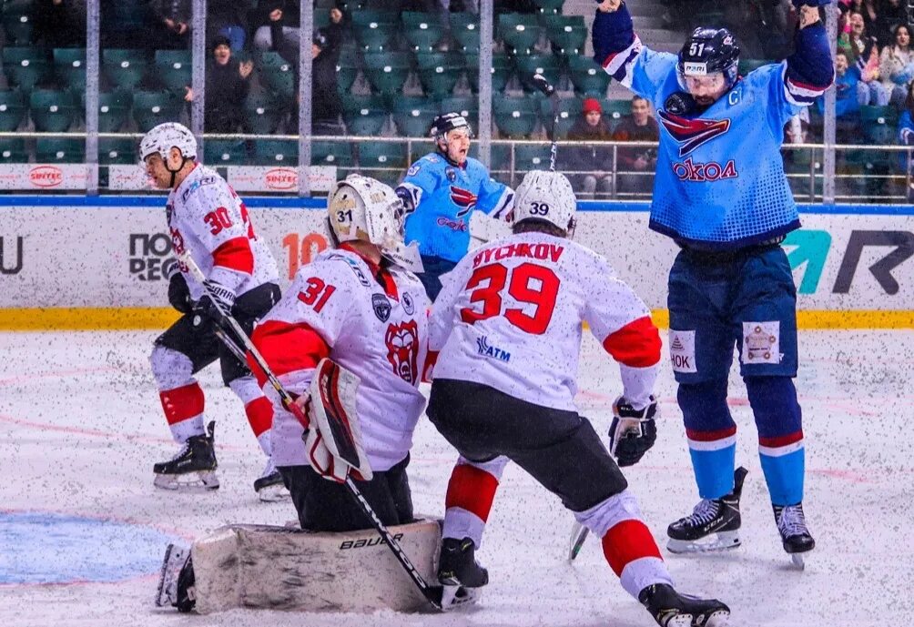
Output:
[[372,477],[356,413],[358,384],[356,374],[324,358],[314,368],[305,402],[310,424],[302,438],[308,461],[315,473],[340,484],[349,474],[356,481]]

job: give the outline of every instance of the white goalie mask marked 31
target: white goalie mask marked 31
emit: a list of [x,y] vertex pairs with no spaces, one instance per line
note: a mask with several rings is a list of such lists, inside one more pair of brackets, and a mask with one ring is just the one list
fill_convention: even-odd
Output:
[[381,250],[403,245],[403,201],[374,178],[348,175],[327,203],[327,221],[337,242],[361,239]]

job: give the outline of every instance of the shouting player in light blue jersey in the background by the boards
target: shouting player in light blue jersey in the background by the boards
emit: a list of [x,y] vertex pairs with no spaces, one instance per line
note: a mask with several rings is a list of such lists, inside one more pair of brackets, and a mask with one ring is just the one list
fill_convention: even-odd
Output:
[[438,277],[466,254],[473,211],[506,218],[514,206],[514,190],[468,156],[472,136],[460,113],[437,116],[431,123],[437,151],[411,165],[396,190],[407,210],[406,242],[419,242],[425,269],[419,278],[432,301],[441,292]]

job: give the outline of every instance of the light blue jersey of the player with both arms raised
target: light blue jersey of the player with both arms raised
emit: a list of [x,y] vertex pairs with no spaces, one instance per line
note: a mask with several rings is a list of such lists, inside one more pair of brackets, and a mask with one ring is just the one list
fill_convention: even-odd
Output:
[[[799,228],[781,143],[784,124],[830,84],[821,79],[831,70],[827,48],[824,55],[818,49],[824,27],[803,29],[792,58],[749,72],[707,110],[682,117],[665,107],[684,91],[677,57],[643,47],[624,5],[597,19],[595,48],[602,43],[608,53],[603,68],[650,101],[659,122],[651,228],[709,250],[738,249]],[[804,80],[809,74],[818,80]]]

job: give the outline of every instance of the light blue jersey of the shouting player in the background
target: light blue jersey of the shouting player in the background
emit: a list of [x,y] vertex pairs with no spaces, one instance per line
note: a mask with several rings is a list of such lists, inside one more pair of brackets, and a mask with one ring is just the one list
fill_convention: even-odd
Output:
[[406,218],[407,243],[418,241],[422,256],[451,261],[461,260],[470,245],[473,211],[503,218],[514,198],[514,190],[494,181],[476,159],[457,166],[434,153],[409,167],[399,187],[416,207]]

